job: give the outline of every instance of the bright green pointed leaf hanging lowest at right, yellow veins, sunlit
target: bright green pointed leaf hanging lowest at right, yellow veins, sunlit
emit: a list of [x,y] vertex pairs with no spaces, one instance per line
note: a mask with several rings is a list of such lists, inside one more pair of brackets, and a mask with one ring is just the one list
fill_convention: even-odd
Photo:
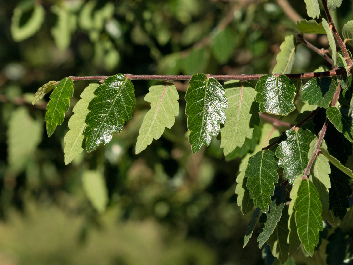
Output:
[[295,200],[295,223],[304,249],[312,255],[319,243],[319,231],[323,229],[322,206],[315,185],[308,179],[301,181]]

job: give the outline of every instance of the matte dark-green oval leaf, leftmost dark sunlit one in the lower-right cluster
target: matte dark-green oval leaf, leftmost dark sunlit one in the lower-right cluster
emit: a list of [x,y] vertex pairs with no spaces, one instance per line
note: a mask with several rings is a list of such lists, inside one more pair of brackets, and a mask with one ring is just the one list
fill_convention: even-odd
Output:
[[256,207],[260,207],[264,213],[268,212],[271,195],[278,181],[277,162],[272,151],[259,151],[249,159],[245,170],[247,177],[246,188],[250,190],[250,197]]

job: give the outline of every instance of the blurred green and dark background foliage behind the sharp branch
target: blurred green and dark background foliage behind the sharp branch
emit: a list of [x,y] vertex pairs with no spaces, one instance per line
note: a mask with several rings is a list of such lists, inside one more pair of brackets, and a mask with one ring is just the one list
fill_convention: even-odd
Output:
[[[333,16],[342,28],[353,19],[352,1],[344,0]],[[49,96],[31,102],[42,84],[70,75],[270,73],[281,42],[299,33],[301,18],[307,18],[302,0],[1,1],[0,264],[264,264],[256,235],[243,249],[251,216],[240,213],[234,190],[246,153],[225,158],[215,137],[192,154],[187,82],[174,82],[180,96],[175,125],[145,151],[135,155],[134,145],[154,81],[133,81],[131,122],[109,144],[83,151],[67,166],[67,120],[89,82],[75,82],[64,124],[50,138],[44,124]],[[328,47],[324,35],[307,38]],[[328,66],[299,46],[292,72],[318,65]],[[294,123],[297,113],[286,121]],[[261,126],[273,126],[269,122]],[[263,256],[271,260],[264,249]],[[302,259],[300,252],[297,264]]]

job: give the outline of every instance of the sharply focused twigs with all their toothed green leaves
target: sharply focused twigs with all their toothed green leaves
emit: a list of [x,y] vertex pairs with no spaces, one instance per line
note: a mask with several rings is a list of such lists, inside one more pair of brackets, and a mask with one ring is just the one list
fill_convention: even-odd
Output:
[[[305,3],[309,17],[321,16],[317,0],[305,0]],[[345,218],[353,178],[353,63],[346,43],[352,44],[353,20],[344,25],[346,40],[342,41],[340,30],[337,31],[330,15],[330,10],[339,7],[341,1],[322,0],[322,3],[327,20],[298,21],[301,34],[297,38],[293,35],[285,38],[271,74],[239,75],[231,80],[229,76],[196,73],[190,78],[185,94],[192,152],[209,146],[215,139],[213,136],[217,136],[227,159],[242,159],[236,180],[237,203],[243,214],[253,211],[244,247],[259,220],[262,223],[259,247],[267,243],[272,255],[281,263],[285,263],[300,244],[312,256],[320,237],[324,236],[321,230],[328,224],[337,226],[348,222]],[[331,55],[308,43],[304,33],[326,34]],[[20,33],[16,34],[20,38]],[[336,51],[336,42],[339,51]],[[332,70],[325,71],[318,66],[315,72],[291,73],[300,44],[322,55]],[[149,148],[153,139],[163,135],[165,128],[172,128],[175,116],[181,113],[180,94],[172,83],[185,80],[180,77],[161,76],[164,81],[150,87],[145,96],[150,109],[139,130],[136,154]],[[64,138],[65,164],[82,152],[83,143],[88,152],[94,151],[101,143],[109,143],[114,133],[119,134],[125,122],[132,119],[135,107],[132,80],[143,78],[117,74],[103,79],[100,85],[86,87],[73,108],[74,114],[68,122],[70,130]],[[145,76],[145,79],[158,79],[158,76]],[[45,116],[48,136],[53,134],[56,125],[62,124],[76,80],[79,78],[51,81],[38,90],[34,103],[55,85]],[[230,81],[222,86],[218,80]],[[310,111],[296,110],[300,104]],[[298,112],[296,118],[295,111]],[[273,125],[261,123],[259,113],[273,121]],[[296,125],[288,126],[279,119],[289,114]],[[283,129],[283,126],[288,128]],[[281,135],[274,133],[279,128]],[[330,236],[329,241],[330,238],[335,240]],[[345,242],[344,247],[352,248],[349,241]],[[352,257],[351,253],[348,259]]]

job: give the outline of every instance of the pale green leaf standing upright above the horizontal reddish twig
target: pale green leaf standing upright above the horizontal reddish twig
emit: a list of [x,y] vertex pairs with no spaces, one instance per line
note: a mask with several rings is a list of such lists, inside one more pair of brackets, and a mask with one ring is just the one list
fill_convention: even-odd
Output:
[[289,35],[282,42],[281,51],[276,56],[276,65],[272,73],[291,73],[295,59],[295,38]]

